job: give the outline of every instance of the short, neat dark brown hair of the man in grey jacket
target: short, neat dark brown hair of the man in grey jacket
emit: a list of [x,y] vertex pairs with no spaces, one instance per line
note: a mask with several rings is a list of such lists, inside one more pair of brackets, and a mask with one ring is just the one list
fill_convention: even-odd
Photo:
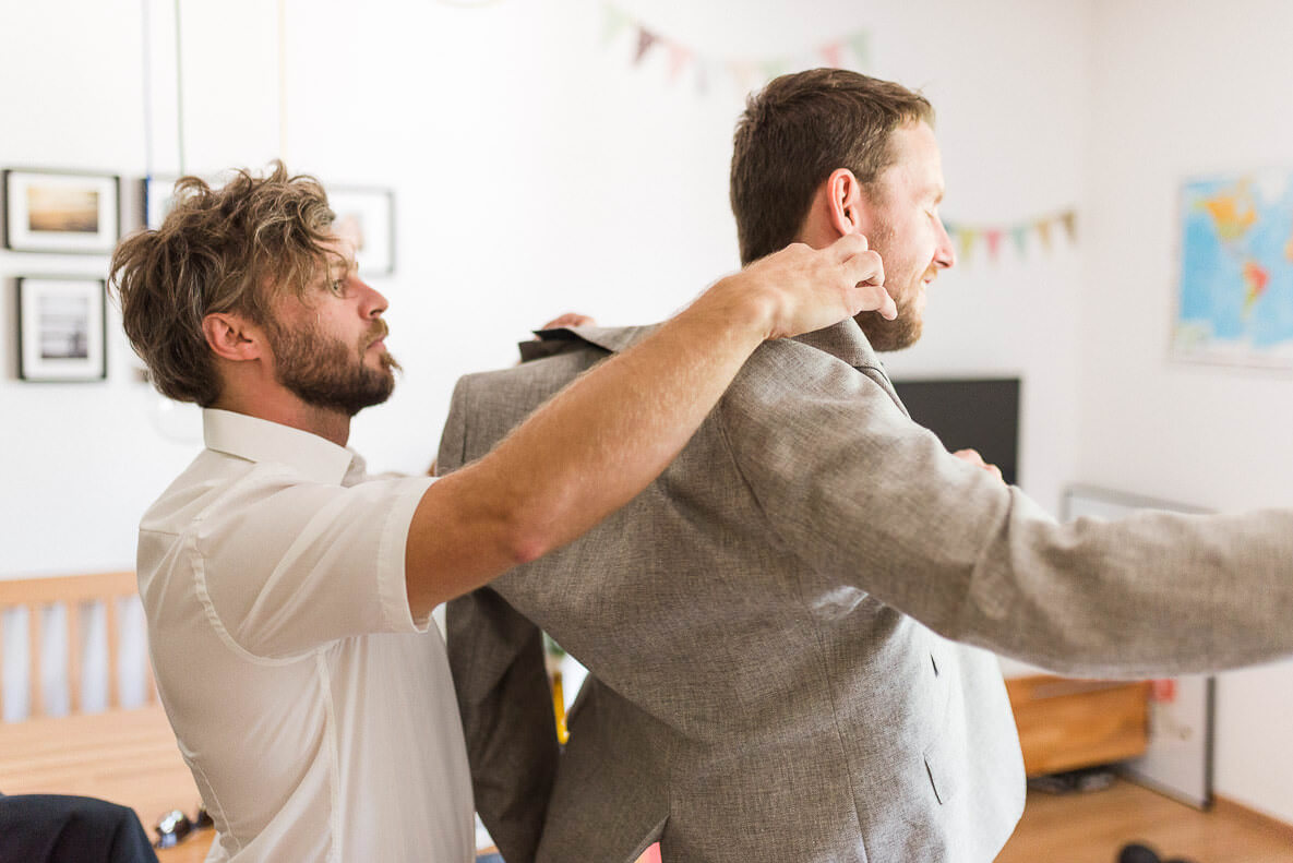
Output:
[[813,192],[837,168],[874,182],[892,164],[890,133],[917,120],[934,125],[923,96],[844,68],[782,75],[751,94],[732,151],[741,262],[794,242]]

